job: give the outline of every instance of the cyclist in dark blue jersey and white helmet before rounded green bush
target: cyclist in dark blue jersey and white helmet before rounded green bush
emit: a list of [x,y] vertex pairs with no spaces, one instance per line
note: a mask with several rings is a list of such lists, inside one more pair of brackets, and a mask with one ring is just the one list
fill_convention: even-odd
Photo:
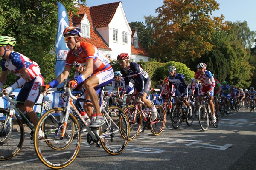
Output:
[[[176,73],[176,71],[177,69],[175,66],[169,66],[169,76],[167,77],[169,81],[169,94],[172,93],[172,96],[183,96],[183,104],[185,104],[189,108],[189,115],[192,116],[193,111],[189,101],[187,100],[188,85],[185,81],[184,75]],[[175,98],[175,103],[178,102],[178,99]]]

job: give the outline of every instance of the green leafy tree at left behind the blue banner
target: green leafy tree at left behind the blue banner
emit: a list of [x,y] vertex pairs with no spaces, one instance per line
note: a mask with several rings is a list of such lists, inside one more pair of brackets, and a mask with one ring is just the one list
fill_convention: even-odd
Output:
[[[76,11],[73,0],[59,0],[67,12]],[[86,2],[86,0],[81,0]],[[54,65],[57,33],[56,0],[2,0],[0,3],[0,35],[15,37],[14,50],[37,62],[45,82],[55,78]],[[8,78],[11,85],[16,76]]]

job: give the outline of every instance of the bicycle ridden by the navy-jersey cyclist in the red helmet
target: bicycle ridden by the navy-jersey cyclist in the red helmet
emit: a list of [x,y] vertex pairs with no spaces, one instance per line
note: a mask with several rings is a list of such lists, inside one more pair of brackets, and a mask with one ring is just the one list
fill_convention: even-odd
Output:
[[[154,89],[153,96],[154,96]],[[141,126],[143,126],[142,132],[145,129],[150,128],[151,132],[154,135],[160,135],[162,133],[165,123],[166,123],[166,114],[161,105],[155,105],[157,108],[157,118],[153,121],[151,119],[151,110],[146,110],[140,104],[144,104],[138,94],[131,94],[131,101],[134,102],[134,105],[129,105],[124,108],[124,113],[127,115],[130,125],[130,138],[129,140],[135,139],[140,133]],[[152,97],[153,99],[153,97]],[[150,100],[151,104],[154,106],[154,102]]]

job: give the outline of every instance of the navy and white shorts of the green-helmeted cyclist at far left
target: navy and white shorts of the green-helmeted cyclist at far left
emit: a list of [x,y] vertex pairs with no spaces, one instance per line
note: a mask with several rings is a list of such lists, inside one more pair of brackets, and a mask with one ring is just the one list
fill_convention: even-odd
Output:
[[25,102],[29,100],[31,102],[37,102],[40,96],[39,86],[44,85],[44,78],[39,74],[37,77],[29,82],[26,82],[21,88],[20,93],[17,96],[17,101]]

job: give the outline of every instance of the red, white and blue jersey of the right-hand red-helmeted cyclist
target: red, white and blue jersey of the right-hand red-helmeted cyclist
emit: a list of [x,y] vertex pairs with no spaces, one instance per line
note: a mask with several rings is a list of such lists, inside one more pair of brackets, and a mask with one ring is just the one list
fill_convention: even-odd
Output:
[[212,91],[215,87],[214,77],[212,76],[212,73],[208,70],[205,70],[203,75],[199,74],[198,71],[195,73],[192,91],[195,90],[195,83],[197,82],[197,80],[201,82],[201,86],[203,86],[203,88],[209,86],[209,91]]

